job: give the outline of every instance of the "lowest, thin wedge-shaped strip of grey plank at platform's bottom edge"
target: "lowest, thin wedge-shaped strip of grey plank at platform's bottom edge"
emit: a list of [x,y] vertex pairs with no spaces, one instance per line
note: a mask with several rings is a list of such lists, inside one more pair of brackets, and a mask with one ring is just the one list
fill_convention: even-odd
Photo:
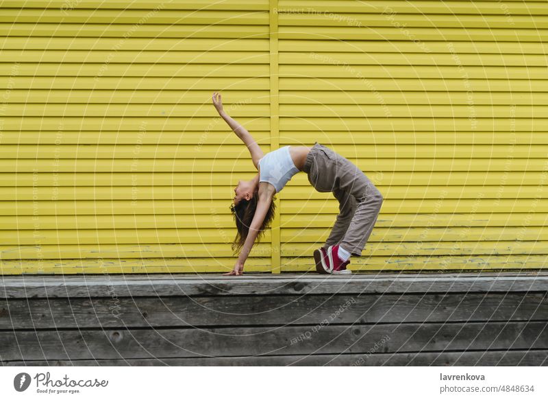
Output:
[[10,361],[3,366],[548,366],[548,350]]

